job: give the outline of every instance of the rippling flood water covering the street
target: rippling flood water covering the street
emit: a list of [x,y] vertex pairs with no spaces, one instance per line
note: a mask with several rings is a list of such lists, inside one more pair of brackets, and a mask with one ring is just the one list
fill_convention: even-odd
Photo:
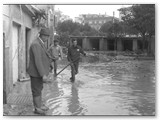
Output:
[[68,67],[44,85],[48,115],[155,115],[154,60],[81,62],[69,78]]

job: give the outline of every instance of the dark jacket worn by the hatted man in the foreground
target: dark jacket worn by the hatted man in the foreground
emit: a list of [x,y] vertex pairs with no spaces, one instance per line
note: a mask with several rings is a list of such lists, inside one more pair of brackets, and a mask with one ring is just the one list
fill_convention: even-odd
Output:
[[51,60],[47,50],[39,38],[30,46],[30,61],[27,72],[32,77],[43,77],[49,74]]

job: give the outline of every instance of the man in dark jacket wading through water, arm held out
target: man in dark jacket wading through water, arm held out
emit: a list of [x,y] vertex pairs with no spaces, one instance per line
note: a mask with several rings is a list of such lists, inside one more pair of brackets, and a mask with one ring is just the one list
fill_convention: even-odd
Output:
[[86,56],[86,53],[77,45],[77,40],[73,39],[72,46],[68,48],[68,61],[71,62],[71,82],[75,81],[75,75],[78,74],[80,53]]

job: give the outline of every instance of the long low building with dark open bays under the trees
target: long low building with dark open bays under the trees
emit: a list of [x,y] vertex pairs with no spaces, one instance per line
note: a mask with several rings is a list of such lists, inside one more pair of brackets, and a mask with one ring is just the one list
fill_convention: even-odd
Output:
[[[142,50],[142,37],[70,36],[87,51],[138,51]],[[148,41],[146,41],[148,43]],[[155,55],[155,38],[151,39],[151,52]]]

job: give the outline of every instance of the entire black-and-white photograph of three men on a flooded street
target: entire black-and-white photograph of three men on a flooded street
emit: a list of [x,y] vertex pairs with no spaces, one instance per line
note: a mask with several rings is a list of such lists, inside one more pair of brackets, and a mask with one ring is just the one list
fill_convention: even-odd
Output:
[[3,116],[156,116],[156,4],[3,4]]

